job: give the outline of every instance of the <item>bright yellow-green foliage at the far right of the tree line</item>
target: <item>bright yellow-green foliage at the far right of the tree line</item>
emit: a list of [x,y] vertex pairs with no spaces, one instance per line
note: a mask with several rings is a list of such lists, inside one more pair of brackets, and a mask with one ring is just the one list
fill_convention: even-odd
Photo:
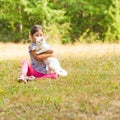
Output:
[[[112,0],[113,4],[107,11],[106,19],[108,21],[106,25],[105,40],[120,40],[120,1]],[[112,34],[111,34],[112,33]]]

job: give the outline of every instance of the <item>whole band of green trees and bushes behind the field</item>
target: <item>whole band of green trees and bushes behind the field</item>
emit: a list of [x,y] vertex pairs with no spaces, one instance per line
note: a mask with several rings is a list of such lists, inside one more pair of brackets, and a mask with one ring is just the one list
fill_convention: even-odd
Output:
[[120,40],[119,0],[0,0],[0,5],[1,41],[27,39],[34,24],[57,30],[50,36],[59,34],[59,43],[80,41],[88,29],[91,39],[98,35],[99,41]]

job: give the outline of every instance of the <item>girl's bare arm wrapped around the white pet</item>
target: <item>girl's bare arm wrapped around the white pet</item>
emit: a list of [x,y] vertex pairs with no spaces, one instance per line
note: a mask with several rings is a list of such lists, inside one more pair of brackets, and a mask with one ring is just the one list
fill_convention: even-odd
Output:
[[35,53],[35,51],[30,51],[30,52],[31,52],[31,54],[33,55],[33,57],[34,57],[36,60],[44,60],[44,59],[46,59],[46,58],[48,58],[48,57],[52,57],[52,56],[53,56],[53,55],[52,55],[53,50],[48,50],[47,52],[44,52],[44,53],[39,54],[39,55],[37,55],[37,54]]

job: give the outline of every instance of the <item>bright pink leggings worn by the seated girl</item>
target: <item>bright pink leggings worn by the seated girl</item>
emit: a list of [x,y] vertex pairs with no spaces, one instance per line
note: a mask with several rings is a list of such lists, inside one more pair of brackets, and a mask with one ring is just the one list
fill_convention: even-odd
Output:
[[34,76],[36,78],[57,78],[58,75],[56,73],[51,73],[51,74],[43,74],[35,71],[31,64],[28,62],[28,60],[24,60],[22,63],[22,73],[21,75],[27,75],[27,76]]

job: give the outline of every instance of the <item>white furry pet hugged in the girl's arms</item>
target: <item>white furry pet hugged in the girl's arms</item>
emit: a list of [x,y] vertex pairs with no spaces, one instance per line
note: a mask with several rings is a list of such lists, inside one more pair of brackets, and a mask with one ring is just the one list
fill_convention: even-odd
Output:
[[[50,46],[46,43],[45,40],[46,40],[45,37],[36,37],[36,47],[35,47],[36,54],[46,52],[47,50],[50,49]],[[48,73],[54,72],[60,76],[67,76],[67,71],[61,67],[60,62],[58,61],[57,58],[48,57],[47,59],[44,60],[44,63],[46,64]]]

